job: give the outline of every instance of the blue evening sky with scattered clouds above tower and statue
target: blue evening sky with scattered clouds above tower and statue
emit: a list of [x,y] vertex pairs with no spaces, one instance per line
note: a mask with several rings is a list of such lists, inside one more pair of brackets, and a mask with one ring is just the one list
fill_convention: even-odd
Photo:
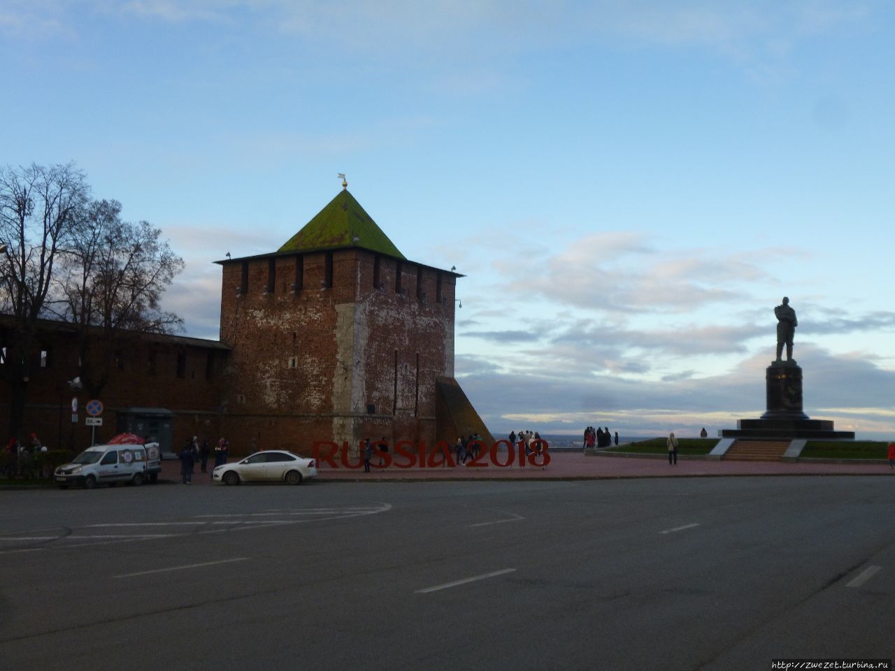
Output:
[[895,437],[895,5],[882,0],[0,0],[0,164],[73,161],[220,267],[341,189],[465,275],[491,431],[711,435],[765,411],[773,307],[805,412]]

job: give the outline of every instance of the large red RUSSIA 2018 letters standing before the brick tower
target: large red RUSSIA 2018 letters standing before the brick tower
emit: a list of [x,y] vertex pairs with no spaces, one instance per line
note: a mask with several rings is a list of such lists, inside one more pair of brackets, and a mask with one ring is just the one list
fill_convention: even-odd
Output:
[[[486,449],[483,443],[473,441],[471,444],[472,456],[465,465],[467,468],[507,468],[516,466],[535,466],[542,468],[550,463],[550,454],[546,440],[534,440],[531,445],[525,446],[524,441],[516,445],[508,440],[498,440]],[[375,447],[375,446],[374,446]],[[411,451],[411,448],[416,448]],[[475,449],[478,447],[478,449]],[[314,459],[320,467],[324,463],[329,468],[360,469],[363,468],[363,443],[359,446],[361,456],[350,459],[348,457],[348,441],[339,446],[329,440],[315,440]],[[395,453],[374,449],[370,460],[371,468],[442,468],[456,466],[455,453],[447,442],[442,440],[433,450],[427,452],[426,444],[414,445],[410,440],[399,440],[395,444]],[[381,464],[379,461],[381,460]]]

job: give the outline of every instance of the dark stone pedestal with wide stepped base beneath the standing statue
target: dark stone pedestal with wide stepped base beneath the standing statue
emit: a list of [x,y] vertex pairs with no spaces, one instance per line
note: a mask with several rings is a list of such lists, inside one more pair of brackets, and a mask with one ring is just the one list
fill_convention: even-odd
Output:
[[767,412],[761,419],[737,420],[722,429],[726,438],[827,438],[854,440],[854,431],[837,431],[831,420],[812,420],[802,410],[802,369],[796,361],[774,361],[765,372]]

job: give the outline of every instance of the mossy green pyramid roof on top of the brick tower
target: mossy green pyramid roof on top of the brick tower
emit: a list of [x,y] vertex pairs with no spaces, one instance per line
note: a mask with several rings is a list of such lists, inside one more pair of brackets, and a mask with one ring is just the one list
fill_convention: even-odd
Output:
[[388,235],[376,225],[361,204],[347,190],[340,191],[327,207],[294,234],[279,252],[362,247],[404,259]]

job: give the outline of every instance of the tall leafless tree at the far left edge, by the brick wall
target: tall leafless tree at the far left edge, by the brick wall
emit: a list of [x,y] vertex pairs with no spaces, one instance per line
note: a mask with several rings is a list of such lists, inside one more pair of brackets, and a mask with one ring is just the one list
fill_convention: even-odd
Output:
[[10,435],[21,434],[35,330],[46,307],[60,249],[87,203],[84,174],[72,164],[0,168],[0,310],[13,318],[4,333],[3,377],[10,385]]

